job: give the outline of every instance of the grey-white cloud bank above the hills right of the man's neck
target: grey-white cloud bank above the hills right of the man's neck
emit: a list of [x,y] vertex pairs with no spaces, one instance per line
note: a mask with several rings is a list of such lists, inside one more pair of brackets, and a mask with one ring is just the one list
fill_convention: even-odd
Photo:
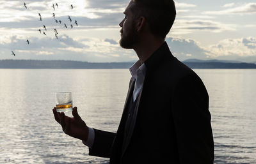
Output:
[[[195,40],[166,38],[173,55],[181,61],[185,59],[256,59],[256,38],[236,38],[221,40],[214,45],[203,47]],[[253,59],[254,59],[253,58]],[[249,59],[249,58],[248,58]]]

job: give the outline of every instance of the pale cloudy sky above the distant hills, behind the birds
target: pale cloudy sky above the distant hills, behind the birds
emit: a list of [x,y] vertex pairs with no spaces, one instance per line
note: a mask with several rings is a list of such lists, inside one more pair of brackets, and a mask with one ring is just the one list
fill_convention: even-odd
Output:
[[[137,61],[134,50],[119,45],[119,23],[128,3],[129,0],[0,0],[0,60]],[[256,63],[255,0],[176,0],[175,6],[177,16],[166,42],[180,61],[225,59]]]

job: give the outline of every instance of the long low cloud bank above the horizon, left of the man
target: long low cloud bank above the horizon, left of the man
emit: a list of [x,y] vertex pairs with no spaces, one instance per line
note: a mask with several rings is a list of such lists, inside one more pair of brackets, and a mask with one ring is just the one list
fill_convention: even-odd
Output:
[[[3,40],[2,40],[3,39]],[[25,36],[1,38],[0,59],[47,59],[73,60],[89,62],[136,61],[133,50],[121,48],[115,40],[108,38],[81,38],[74,40],[67,35],[60,35],[58,40],[52,36],[30,37],[29,45]],[[111,43],[109,43],[109,41]]]

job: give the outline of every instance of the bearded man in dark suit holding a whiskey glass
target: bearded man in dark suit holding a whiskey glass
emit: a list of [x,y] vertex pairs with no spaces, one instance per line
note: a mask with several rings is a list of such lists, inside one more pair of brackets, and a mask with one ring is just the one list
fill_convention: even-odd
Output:
[[88,128],[56,112],[63,131],[88,145],[89,155],[117,163],[195,163],[214,160],[209,96],[202,80],[172,56],[164,41],[175,20],[172,0],[132,0],[124,11],[120,45],[139,61],[116,133]]

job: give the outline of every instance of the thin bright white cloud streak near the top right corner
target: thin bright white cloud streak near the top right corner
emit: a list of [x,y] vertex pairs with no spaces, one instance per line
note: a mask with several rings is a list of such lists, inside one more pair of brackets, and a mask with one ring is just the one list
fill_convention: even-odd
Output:
[[[228,6],[228,5],[227,5]],[[253,14],[256,13],[256,3],[236,4],[234,8],[228,8],[220,11],[205,11],[204,14],[227,15],[227,14]],[[231,7],[229,4],[228,7]]]

